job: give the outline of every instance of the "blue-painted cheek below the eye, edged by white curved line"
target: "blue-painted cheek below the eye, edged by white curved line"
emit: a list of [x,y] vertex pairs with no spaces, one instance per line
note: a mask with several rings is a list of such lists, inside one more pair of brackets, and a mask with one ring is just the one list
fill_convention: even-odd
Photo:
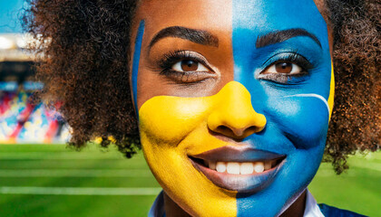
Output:
[[318,94],[298,94],[269,99],[269,119],[298,149],[325,144],[329,110]]

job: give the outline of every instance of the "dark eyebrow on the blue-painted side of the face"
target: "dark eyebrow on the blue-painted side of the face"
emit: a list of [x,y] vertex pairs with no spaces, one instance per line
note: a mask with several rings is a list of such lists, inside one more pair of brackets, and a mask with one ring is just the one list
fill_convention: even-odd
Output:
[[290,38],[297,36],[307,36],[311,38],[314,42],[317,42],[321,48],[321,43],[318,41],[318,37],[313,33],[308,33],[305,29],[288,29],[282,31],[274,31],[262,36],[259,36],[255,46],[257,48],[265,47],[270,44],[285,42]]

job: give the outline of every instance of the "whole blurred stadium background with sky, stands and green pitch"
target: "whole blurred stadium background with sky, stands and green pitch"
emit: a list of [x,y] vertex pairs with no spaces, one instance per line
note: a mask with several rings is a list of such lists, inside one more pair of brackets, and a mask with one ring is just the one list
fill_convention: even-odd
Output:
[[[44,83],[34,79],[31,39],[22,33],[27,6],[0,0],[0,216],[146,216],[161,187],[142,153],[125,159],[115,147],[67,148],[64,119],[32,103]],[[342,175],[322,164],[309,190],[318,203],[381,216],[381,153],[348,161]]]

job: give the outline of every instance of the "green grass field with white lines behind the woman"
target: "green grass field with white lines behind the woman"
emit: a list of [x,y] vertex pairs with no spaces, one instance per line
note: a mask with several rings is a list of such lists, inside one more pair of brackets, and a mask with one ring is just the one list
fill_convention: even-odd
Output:
[[[381,153],[351,157],[349,165],[343,175],[321,165],[310,191],[318,203],[381,216]],[[146,216],[160,191],[142,154],[0,146],[0,216]]]

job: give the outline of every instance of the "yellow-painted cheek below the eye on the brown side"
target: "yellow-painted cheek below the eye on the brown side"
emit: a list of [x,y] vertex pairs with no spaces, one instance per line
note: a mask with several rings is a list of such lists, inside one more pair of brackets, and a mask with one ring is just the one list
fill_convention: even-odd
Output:
[[176,146],[205,119],[208,105],[202,99],[160,96],[147,100],[139,110],[140,130],[155,144]]

